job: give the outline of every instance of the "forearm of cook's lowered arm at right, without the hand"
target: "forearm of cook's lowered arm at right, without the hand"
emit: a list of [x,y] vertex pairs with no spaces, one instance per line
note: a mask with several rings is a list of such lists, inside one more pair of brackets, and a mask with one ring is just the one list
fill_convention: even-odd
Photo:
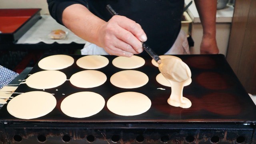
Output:
[[217,0],[194,0],[203,26],[204,36],[216,36]]

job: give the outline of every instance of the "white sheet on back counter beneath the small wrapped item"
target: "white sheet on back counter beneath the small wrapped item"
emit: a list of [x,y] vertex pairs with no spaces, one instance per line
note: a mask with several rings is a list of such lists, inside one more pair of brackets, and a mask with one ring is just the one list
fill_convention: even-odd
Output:
[[[67,32],[67,36],[62,40],[54,40],[49,37],[52,30],[61,29]],[[44,42],[46,44],[52,44],[57,42],[58,44],[70,44],[75,42],[77,44],[85,44],[86,41],[76,36],[73,32],[68,30],[65,26],[58,24],[50,15],[42,15],[42,18],[36,22],[17,42],[17,44],[37,44]]]

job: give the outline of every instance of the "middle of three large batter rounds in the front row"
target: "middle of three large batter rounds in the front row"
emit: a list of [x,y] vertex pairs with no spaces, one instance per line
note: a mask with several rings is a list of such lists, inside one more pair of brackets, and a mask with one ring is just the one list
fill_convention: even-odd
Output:
[[104,98],[95,92],[77,92],[64,98],[60,109],[73,118],[86,118],[97,114],[105,106]]

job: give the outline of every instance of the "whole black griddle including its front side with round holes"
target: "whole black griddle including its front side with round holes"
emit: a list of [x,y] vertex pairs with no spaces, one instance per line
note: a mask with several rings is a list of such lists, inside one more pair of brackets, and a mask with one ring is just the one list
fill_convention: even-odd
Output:
[[[50,55],[43,55],[42,58],[47,56]],[[74,58],[74,64],[60,70],[66,74],[67,79],[76,72],[86,70],[76,65],[76,60],[81,58],[81,55],[70,56]],[[14,140],[14,136],[18,135],[22,139],[21,143],[28,142],[25,140],[26,136],[33,134],[33,136],[28,136],[34,138],[32,142],[33,140],[42,142],[38,140],[38,136],[42,135],[46,138],[42,139],[46,143],[176,143],[177,140],[191,144],[196,142],[256,142],[254,136],[256,106],[230,68],[224,55],[176,56],[188,64],[192,73],[192,83],[185,86],[183,90],[183,96],[192,102],[192,107],[188,109],[168,105],[167,99],[171,88],[162,86],[156,81],[156,76],[160,72],[152,65],[150,56],[142,56],[146,61],[145,65],[132,69],[144,72],[149,82],[140,88],[133,89],[118,88],[110,83],[110,77],[124,69],[112,65],[112,60],[116,56],[105,56],[110,61],[109,64],[97,69],[107,76],[107,81],[103,85],[96,88],[77,88],[66,81],[56,88],[39,90],[54,94],[57,99],[56,108],[45,116],[31,120],[18,119],[8,113],[7,104],[5,104],[0,110],[0,122],[2,129],[6,130],[6,140],[10,143],[18,142],[17,138]],[[30,74],[39,71],[42,69],[36,64]],[[38,91],[38,89],[20,84],[15,92],[30,91]],[[147,112],[137,116],[114,114],[108,110],[106,103],[98,114],[88,118],[72,118],[62,113],[60,110],[62,100],[70,94],[82,91],[96,92],[104,97],[105,102],[111,96],[121,92],[139,92],[150,98],[152,106]],[[77,138],[78,135],[79,138]]]

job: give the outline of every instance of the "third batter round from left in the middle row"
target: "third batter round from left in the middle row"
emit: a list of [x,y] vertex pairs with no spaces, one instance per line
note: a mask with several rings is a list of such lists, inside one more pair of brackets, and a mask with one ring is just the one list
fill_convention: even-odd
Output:
[[148,83],[148,76],[137,70],[123,70],[113,74],[110,82],[119,88],[139,88]]

